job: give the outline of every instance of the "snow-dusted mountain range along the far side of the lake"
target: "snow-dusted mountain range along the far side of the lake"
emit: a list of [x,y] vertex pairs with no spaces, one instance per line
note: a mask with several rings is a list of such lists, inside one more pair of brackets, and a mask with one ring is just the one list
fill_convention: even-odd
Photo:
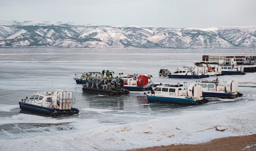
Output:
[[255,37],[256,27],[178,29],[49,22],[0,25],[0,47],[256,48]]

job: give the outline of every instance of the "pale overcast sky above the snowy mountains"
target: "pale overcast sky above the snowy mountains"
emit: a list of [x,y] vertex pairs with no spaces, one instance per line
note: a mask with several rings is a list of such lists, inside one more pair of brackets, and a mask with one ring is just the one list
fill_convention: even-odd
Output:
[[0,0],[0,20],[172,28],[255,26],[255,0]]

